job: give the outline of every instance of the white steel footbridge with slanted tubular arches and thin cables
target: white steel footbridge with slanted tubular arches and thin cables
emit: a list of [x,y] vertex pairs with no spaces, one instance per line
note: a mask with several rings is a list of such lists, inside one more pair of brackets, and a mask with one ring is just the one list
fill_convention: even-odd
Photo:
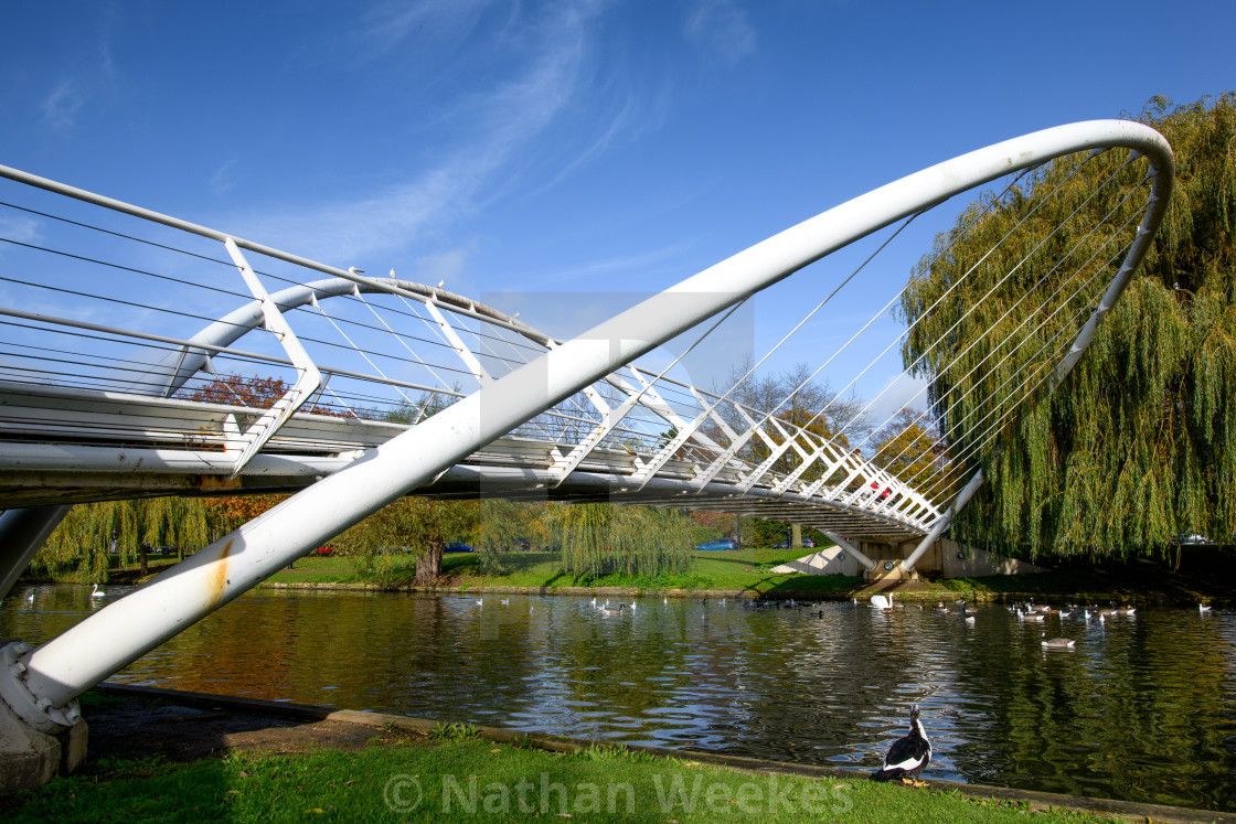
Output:
[[[1091,180],[1096,166],[1105,172]],[[0,167],[0,595],[73,504],[297,493],[37,650],[4,647],[0,697],[32,730],[73,728],[78,694],[404,494],[753,514],[912,541],[902,561],[912,568],[980,484],[984,451],[1089,345],[1153,238],[1172,177],[1166,141],[1138,124],[1036,132],[875,189],[564,341],[394,272],[326,266]],[[979,366],[974,356],[904,364],[931,382],[911,403],[937,432],[929,448],[874,448],[852,429],[868,410],[842,414],[842,393],[870,364],[822,405],[800,403],[855,350],[900,353],[910,329],[854,341],[904,293],[873,299],[871,320],[826,357],[795,334],[827,317],[843,287],[861,293],[875,252],[907,225],[994,187],[937,238],[938,259],[1030,188],[1072,193],[1078,180],[1127,191],[1084,232],[1046,235],[1072,246],[1026,241],[1044,231],[1042,215],[1027,215],[967,272],[1001,272],[993,300],[1004,310],[975,338]],[[810,351],[811,378],[753,405],[743,385],[771,351],[730,387],[684,377],[735,308],[860,241],[874,252],[822,285],[772,347]],[[1049,274],[1022,283],[1043,254],[1054,256]],[[955,330],[973,308],[949,310]],[[984,384],[981,398],[949,389],[969,385],[954,364],[969,376],[1010,362],[1020,364],[1011,383]]]

